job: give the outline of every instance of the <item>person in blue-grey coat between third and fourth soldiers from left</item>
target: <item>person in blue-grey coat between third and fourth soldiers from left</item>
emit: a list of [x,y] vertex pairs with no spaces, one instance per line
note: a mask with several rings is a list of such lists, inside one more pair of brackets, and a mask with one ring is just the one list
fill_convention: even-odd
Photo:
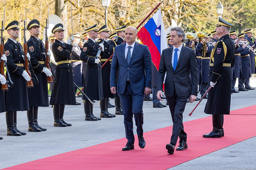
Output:
[[[72,52],[71,52],[71,64],[73,68],[73,78],[74,78],[74,83],[78,87],[83,87],[83,78],[82,78],[82,61],[79,59],[80,53],[81,53],[81,48],[79,47],[79,41],[80,41],[80,35],[79,33],[75,33],[74,35],[74,41],[71,43],[72,47]],[[71,35],[70,35],[71,37]],[[68,40],[70,41],[70,39]],[[70,42],[69,42],[70,43]],[[77,92],[77,87],[74,86],[75,88],[75,94]],[[76,102],[76,105],[81,105],[81,103]]]

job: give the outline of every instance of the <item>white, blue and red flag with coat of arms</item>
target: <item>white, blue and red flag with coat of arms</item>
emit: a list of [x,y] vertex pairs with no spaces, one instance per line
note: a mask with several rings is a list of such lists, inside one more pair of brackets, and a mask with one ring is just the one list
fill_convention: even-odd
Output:
[[162,50],[168,47],[161,9],[140,29],[138,38],[148,46],[152,62],[158,71]]

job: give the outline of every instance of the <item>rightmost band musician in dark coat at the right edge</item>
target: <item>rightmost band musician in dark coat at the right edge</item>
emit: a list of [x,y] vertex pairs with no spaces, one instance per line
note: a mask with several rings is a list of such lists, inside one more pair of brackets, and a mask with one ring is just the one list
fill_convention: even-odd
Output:
[[[247,44],[249,45],[249,47],[252,48],[252,50],[255,48],[255,45],[256,45],[256,40],[254,40],[254,42],[252,42],[252,29],[248,29],[248,30],[245,30],[244,33],[246,35],[248,35],[248,38],[247,38]],[[252,74],[255,74],[255,55],[253,54],[253,52],[250,52],[250,62],[251,62],[251,72]],[[252,76],[250,76],[252,77]],[[252,88],[250,85],[250,78],[246,78],[245,79],[245,89],[248,89],[248,90],[254,90],[255,88]]]

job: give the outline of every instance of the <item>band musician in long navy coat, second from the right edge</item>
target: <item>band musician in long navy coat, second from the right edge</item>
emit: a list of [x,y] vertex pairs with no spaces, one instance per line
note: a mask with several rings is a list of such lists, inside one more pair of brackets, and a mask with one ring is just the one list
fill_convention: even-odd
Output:
[[[238,35],[241,41],[244,41],[244,33]],[[246,44],[244,44],[246,46]],[[244,46],[243,45],[243,46]],[[242,46],[242,47],[243,47]],[[244,88],[246,80],[248,80],[252,75],[251,63],[250,63],[250,50],[245,47],[242,52],[240,52],[241,56],[241,78],[238,78],[238,91],[246,92],[248,89]]]

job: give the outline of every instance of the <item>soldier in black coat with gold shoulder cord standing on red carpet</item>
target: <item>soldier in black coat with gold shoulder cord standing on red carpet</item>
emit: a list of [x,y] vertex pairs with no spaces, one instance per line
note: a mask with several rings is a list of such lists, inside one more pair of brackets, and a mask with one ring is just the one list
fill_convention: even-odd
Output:
[[211,52],[210,85],[204,113],[212,115],[213,130],[203,137],[223,137],[224,115],[230,113],[231,68],[235,63],[235,44],[229,37],[232,24],[219,17],[216,34],[220,37]]

